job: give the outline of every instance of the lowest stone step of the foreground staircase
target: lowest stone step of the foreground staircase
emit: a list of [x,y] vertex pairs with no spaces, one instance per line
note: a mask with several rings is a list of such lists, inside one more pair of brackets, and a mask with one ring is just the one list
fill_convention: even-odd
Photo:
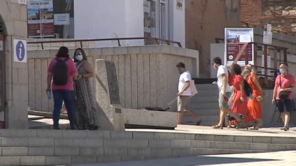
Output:
[[265,151],[249,151],[236,149],[155,149],[150,155],[136,156],[6,156],[0,157],[1,166],[16,165],[70,165],[70,164],[88,164],[88,163],[114,163],[120,161],[132,160],[151,160],[159,158],[174,158],[181,156],[197,156],[210,154],[228,154],[228,153],[263,153]]

